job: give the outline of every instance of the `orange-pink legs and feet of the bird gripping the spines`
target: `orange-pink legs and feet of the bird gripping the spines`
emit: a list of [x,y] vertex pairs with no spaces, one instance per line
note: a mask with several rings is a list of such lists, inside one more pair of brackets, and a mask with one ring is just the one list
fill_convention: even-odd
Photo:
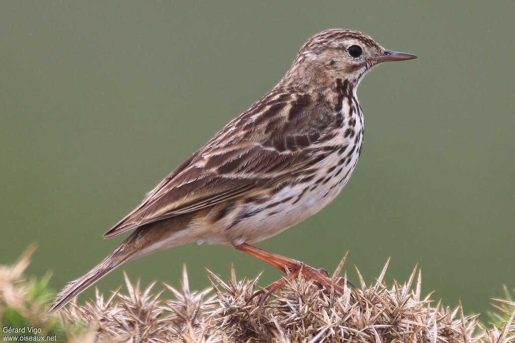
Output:
[[[238,250],[242,250],[247,252],[254,257],[263,260],[274,267],[281,269],[284,273],[286,273],[286,277],[282,278],[279,281],[276,281],[269,286],[265,287],[265,291],[260,291],[255,293],[253,297],[258,294],[263,294],[264,296],[261,299],[261,304],[263,304],[272,294],[276,294],[281,290],[281,288],[285,285],[286,280],[291,280],[296,278],[299,275],[299,272],[302,270],[302,275],[308,279],[314,280],[317,284],[324,286],[325,288],[333,289],[340,294],[344,293],[344,288],[335,284],[331,279],[329,279],[327,275],[327,271],[324,269],[316,269],[311,266],[308,266],[300,261],[290,259],[278,254],[274,254],[273,252],[252,246],[247,243],[243,243],[241,245],[234,246]],[[325,274],[325,275],[324,275]]]

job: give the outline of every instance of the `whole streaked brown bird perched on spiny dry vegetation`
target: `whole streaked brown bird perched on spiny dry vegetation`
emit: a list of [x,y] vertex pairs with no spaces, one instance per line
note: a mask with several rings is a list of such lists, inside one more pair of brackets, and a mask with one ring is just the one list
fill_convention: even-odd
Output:
[[[104,234],[133,230],[111,255],[68,283],[57,311],[122,264],[193,243],[232,245],[321,286],[338,285],[321,269],[258,248],[316,214],[347,184],[362,151],[364,117],[356,91],[364,76],[388,61],[415,59],[383,48],[351,29],[315,34],[284,77],[249,109],[166,176]],[[266,288],[277,292],[279,280]]]

